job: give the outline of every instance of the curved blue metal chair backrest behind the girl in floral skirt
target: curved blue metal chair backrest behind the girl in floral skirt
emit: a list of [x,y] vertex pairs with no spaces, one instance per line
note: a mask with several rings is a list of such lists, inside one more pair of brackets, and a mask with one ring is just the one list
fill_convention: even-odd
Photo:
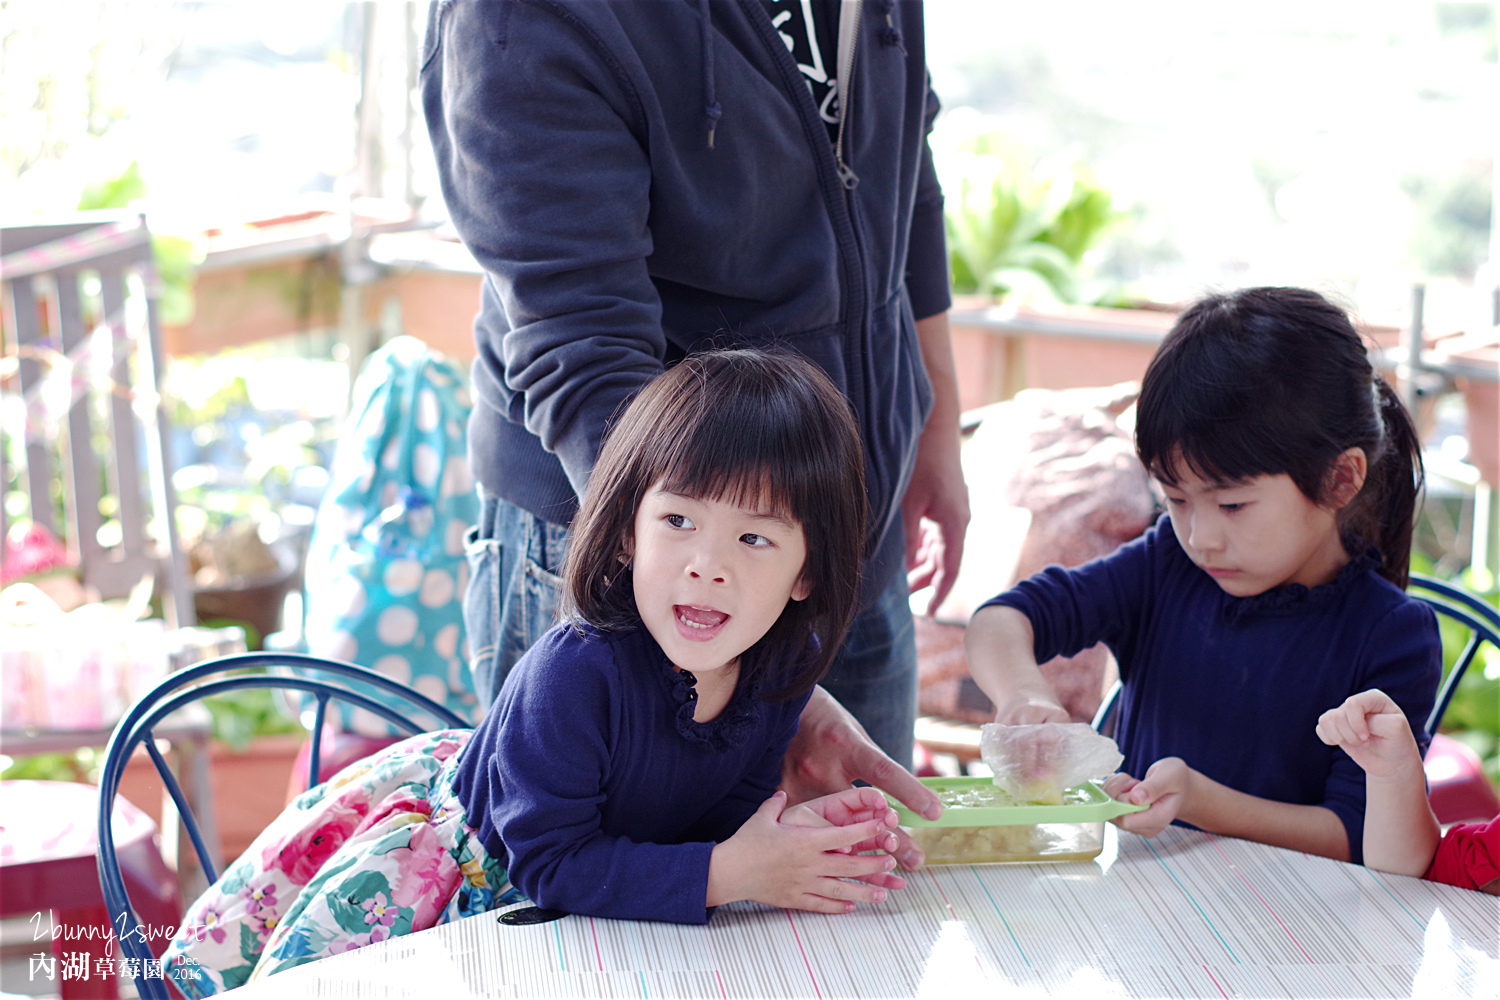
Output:
[[[104,889],[105,907],[110,910],[110,921],[118,933],[118,945],[128,958],[140,960],[138,969],[152,958],[144,934],[140,933],[140,922],[130,906],[124,880],[120,874],[120,864],[114,850],[110,817],[114,808],[114,796],[120,787],[120,777],[124,765],[130,760],[136,747],[144,747],[150,756],[156,772],[160,775],[166,793],[177,805],[183,817],[188,837],[198,864],[202,865],[208,882],[216,882],[219,873],[213,858],[192,816],[183,790],[172,775],[171,768],[156,748],[153,729],[172,712],[192,705],[213,694],[224,694],[242,688],[279,688],[286,691],[302,691],[315,700],[310,732],[315,735],[308,762],[308,786],[318,783],[320,739],[322,723],[327,717],[328,703],[340,702],[363,708],[392,723],[399,730],[416,735],[432,729],[468,729],[468,723],[442,705],[414,691],[398,681],[357,667],[351,663],[308,657],[302,654],[272,654],[252,652],[236,657],[220,657],[172,673],[165,681],[142,696],[116,726],[110,745],[105,750],[104,774],[99,781],[99,883]],[[382,700],[372,697],[380,693]],[[396,708],[400,706],[400,708]],[[430,720],[422,724],[418,720]],[[142,997],[148,1000],[165,1000],[166,988],[160,979],[147,979],[144,973],[136,979],[136,987]]]

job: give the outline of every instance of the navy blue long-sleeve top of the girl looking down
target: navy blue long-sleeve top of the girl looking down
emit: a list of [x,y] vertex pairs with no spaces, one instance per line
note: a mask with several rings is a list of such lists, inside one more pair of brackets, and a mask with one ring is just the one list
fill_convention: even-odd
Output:
[[1030,621],[1036,661],[1096,642],[1119,661],[1116,741],[1137,778],[1162,757],[1246,795],[1322,805],[1364,858],[1365,772],[1316,733],[1318,715],[1380,688],[1418,736],[1442,675],[1437,619],[1383,579],[1374,553],[1326,585],[1232,597],[1161,517],[1114,553],[1048,567],[988,604]]

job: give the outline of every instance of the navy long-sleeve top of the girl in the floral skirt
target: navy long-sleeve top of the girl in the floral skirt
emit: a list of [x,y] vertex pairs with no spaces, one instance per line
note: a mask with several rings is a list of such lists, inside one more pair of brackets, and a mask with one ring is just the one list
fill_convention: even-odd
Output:
[[506,678],[453,787],[532,903],[704,924],[714,844],[776,792],[807,703],[752,688],[696,723],[693,675],[644,627],[556,625]]

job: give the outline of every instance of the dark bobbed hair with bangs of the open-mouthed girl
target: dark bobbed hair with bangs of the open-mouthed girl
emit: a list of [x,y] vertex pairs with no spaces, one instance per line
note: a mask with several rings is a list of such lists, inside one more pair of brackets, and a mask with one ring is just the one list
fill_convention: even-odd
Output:
[[636,508],[672,493],[768,505],[802,526],[812,591],[788,601],[740,660],[765,700],[806,694],[828,670],[858,609],[864,459],[843,394],[812,361],[770,351],[710,351],[668,369],[609,430],[573,520],[564,613],[596,628],[638,621],[624,553]]

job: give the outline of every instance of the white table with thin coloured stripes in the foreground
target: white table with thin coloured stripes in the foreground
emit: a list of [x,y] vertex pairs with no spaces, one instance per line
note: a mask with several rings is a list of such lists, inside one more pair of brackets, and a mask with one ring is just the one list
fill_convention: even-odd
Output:
[[1500,997],[1500,898],[1248,841],[1106,828],[1094,862],[933,867],[848,916],[482,915],[230,996]]

